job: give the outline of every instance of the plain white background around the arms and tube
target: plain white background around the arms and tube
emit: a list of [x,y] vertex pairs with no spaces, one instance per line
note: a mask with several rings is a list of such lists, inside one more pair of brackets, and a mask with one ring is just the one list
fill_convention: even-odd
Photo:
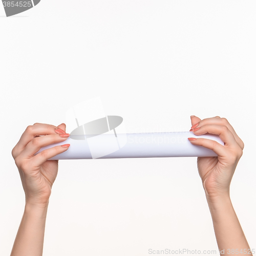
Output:
[[[6,18],[0,4],[0,254],[25,202],[12,148],[28,125],[58,125],[97,96],[127,132],[226,117],[245,143],[231,200],[255,248],[255,13],[255,1],[41,0]],[[44,255],[218,250],[196,161],[60,161]]]

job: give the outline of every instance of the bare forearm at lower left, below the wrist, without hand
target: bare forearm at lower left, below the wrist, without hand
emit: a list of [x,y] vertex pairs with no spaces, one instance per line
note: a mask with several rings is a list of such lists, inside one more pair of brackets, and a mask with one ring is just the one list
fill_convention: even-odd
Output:
[[41,256],[48,204],[26,205],[11,256]]

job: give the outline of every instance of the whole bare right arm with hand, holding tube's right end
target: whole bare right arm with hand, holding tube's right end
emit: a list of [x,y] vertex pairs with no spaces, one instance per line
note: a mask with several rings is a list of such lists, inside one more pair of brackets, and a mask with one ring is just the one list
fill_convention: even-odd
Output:
[[218,155],[198,157],[197,164],[221,255],[251,253],[229,196],[230,182],[243,155],[244,143],[226,118],[217,116],[201,120],[191,116],[191,123],[190,131],[194,134],[216,134],[224,142],[223,146],[213,140],[189,138],[192,144],[209,148]]

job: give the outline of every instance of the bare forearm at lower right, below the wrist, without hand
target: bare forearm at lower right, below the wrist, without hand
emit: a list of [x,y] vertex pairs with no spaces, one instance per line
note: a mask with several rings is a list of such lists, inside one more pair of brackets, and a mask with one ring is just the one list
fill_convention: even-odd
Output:
[[231,254],[232,249],[234,249],[236,255],[248,254],[250,247],[229,195],[223,195],[215,199],[207,198],[207,202],[214,224],[218,247],[222,251],[221,255]]

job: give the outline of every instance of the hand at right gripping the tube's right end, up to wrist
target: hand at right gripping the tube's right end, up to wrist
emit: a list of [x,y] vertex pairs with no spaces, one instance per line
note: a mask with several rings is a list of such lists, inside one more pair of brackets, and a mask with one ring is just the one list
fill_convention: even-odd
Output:
[[214,140],[203,138],[191,140],[189,138],[192,144],[209,148],[218,155],[218,157],[198,157],[197,159],[198,171],[206,197],[229,196],[230,182],[243,155],[244,143],[226,118],[219,116],[203,120],[196,116],[190,118],[193,125],[190,131],[193,131],[195,135],[216,134],[224,142],[223,146]]

